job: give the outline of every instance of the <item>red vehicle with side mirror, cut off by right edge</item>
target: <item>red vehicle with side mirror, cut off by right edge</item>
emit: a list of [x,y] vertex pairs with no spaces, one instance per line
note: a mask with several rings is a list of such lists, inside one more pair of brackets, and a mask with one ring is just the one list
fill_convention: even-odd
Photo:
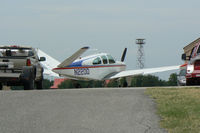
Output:
[[183,60],[188,60],[186,85],[200,85],[200,42],[192,49],[190,56],[182,54]]

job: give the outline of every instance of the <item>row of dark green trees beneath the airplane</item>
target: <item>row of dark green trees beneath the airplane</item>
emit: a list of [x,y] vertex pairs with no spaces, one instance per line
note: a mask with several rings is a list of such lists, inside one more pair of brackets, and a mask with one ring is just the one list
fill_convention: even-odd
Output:
[[[74,81],[66,80],[62,82],[58,88],[98,88],[98,87],[127,87],[126,78],[119,80],[111,80],[108,83],[103,81]],[[154,75],[137,75],[132,77],[129,87],[153,87],[153,86],[177,86],[177,74],[172,73],[168,79],[162,80]]]

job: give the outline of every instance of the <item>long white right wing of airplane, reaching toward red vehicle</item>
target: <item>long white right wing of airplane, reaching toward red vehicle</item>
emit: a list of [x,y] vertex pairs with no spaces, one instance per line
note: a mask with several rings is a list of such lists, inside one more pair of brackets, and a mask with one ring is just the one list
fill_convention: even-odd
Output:
[[147,69],[139,69],[139,70],[127,70],[127,71],[121,71],[119,73],[113,73],[111,75],[108,75],[107,77],[105,77],[105,79],[115,79],[115,78],[129,77],[129,76],[134,76],[134,75],[147,75],[147,74],[152,74],[152,73],[157,73],[157,72],[177,70],[179,69],[179,67],[180,65],[158,67],[158,68],[147,68]]

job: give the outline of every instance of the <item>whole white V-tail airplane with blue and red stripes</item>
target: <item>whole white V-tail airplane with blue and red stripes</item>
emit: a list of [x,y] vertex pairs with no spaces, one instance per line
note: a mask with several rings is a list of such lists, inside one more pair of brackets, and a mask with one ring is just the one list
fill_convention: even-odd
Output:
[[179,69],[179,65],[177,65],[126,70],[124,60],[127,48],[122,54],[121,61],[116,61],[108,53],[94,54],[81,58],[80,56],[88,49],[89,47],[79,49],[62,63],[38,49],[38,55],[46,57],[46,61],[41,62],[45,67],[44,74],[56,77],[59,75],[75,80],[107,80]]

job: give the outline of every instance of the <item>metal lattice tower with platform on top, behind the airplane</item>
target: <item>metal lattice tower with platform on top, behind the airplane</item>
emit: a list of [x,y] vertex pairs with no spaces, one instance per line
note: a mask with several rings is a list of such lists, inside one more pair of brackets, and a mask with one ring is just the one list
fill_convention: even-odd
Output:
[[140,69],[144,68],[144,42],[145,39],[136,39],[136,44],[138,45],[138,57],[137,57],[137,66]]

